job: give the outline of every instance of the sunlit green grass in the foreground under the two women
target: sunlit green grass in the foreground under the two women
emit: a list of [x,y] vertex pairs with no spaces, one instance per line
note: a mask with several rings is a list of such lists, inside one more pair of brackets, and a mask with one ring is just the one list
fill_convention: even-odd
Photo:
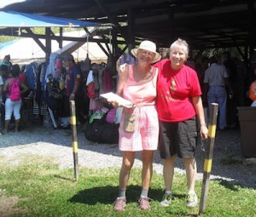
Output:
[[[26,159],[26,160],[24,160]],[[49,158],[23,157],[22,164],[0,163],[0,197],[19,197],[15,214],[8,216],[197,216],[197,208],[186,208],[186,180],[176,174],[172,207],[160,208],[163,177],[154,174],[149,191],[150,211],[138,208],[141,191],[141,170],[133,168],[127,189],[125,212],[115,213],[119,168],[79,168],[79,180],[74,181],[73,169],[60,169]],[[198,196],[201,182],[196,183]],[[1,200],[0,200],[1,202]],[[201,216],[256,216],[256,191],[232,186],[225,181],[211,181],[207,208]],[[1,208],[1,204],[0,204]],[[0,210],[1,213],[1,210]]]

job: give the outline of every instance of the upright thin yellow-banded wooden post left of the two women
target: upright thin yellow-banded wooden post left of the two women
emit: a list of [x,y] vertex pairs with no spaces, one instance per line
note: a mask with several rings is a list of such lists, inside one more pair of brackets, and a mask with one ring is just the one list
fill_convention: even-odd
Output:
[[75,101],[70,100],[70,111],[71,111],[71,129],[72,129],[72,145],[73,145],[73,171],[75,180],[79,179],[79,156],[78,156],[78,135],[77,135],[77,119]]

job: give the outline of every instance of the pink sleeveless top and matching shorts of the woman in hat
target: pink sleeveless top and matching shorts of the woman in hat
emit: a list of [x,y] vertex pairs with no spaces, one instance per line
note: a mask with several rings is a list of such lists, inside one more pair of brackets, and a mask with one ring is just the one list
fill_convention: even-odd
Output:
[[[152,66],[152,73],[147,81],[137,83],[133,77],[133,69],[134,66],[129,66],[123,97],[137,106],[123,109],[119,126],[119,150],[156,150],[159,138],[159,122],[155,107],[158,70]],[[136,116],[133,133],[124,130],[125,113]]]

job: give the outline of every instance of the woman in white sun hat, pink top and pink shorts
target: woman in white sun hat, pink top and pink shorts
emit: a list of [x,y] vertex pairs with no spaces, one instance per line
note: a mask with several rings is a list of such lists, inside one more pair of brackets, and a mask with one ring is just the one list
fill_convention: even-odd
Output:
[[[142,151],[143,172],[140,208],[148,210],[148,189],[153,171],[154,150],[158,146],[159,124],[155,108],[156,81],[158,70],[151,66],[160,60],[156,46],[143,41],[138,49],[132,49],[135,65],[123,65],[119,70],[117,94],[134,105],[123,109],[119,127],[119,150],[123,151],[123,163],[119,173],[119,194],[114,203],[115,211],[124,211],[126,186],[136,151]],[[117,102],[112,102],[118,106]]]

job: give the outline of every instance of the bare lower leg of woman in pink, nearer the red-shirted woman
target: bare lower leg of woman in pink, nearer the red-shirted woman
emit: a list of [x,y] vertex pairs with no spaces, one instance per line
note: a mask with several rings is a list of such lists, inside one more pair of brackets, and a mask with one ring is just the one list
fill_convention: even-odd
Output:
[[153,173],[153,156],[154,151],[143,150],[142,160],[143,160],[143,171],[142,171],[142,186],[143,189],[147,190],[150,185],[150,180]]

